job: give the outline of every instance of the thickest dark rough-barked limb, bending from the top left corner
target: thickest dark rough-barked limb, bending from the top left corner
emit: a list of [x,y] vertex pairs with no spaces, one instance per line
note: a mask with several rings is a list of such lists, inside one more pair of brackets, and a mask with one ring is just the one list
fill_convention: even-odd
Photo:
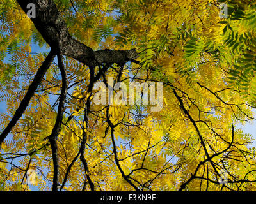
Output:
[[25,13],[28,12],[26,7],[29,3],[35,4],[36,18],[31,18],[31,20],[51,47],[60,48],[61,55],[77,59],[89,67],[95,67],[98,63],[124,64],[124,62],[136,59],[136,50],[99,50],[93,52],[92,48],[72,38],[61,13],[52,0],[17,0],[17,2]]

